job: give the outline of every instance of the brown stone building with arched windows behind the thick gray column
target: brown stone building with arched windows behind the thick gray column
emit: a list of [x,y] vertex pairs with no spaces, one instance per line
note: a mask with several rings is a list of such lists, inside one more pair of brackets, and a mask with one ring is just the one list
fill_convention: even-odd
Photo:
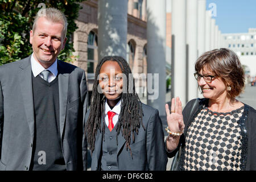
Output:
[[[85,70],[88,80],[89,96],[92,92],[94,73],[98,63],[98,1],[88,0],[80,3],[82,9],[76,20],[77,30],[73,34],[77,56],[74,65]],[[127,14],[127,46],[124,57],[133,73],[147,73],[146,51],[146,1],[134,0],[128,2]],[[146,78],[136,78],[135,84],[140,97],[146,94]],[[138,91],[139,91],[138,90]]]

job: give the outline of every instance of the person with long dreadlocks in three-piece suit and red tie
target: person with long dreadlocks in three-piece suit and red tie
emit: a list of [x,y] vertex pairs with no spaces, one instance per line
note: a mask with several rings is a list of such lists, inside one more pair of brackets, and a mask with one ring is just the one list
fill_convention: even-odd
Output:
[[166,170],[158,110],[139,100],[122,57],[106,56],[98,63],[85,119],[92,171]]

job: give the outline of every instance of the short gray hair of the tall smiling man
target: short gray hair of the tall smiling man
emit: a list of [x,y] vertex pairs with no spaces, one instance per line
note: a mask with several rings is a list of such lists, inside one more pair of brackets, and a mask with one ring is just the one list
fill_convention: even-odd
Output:
[[65,36],[67,35],[68,22],[67,22],[67,18],[64,15],[64,13],[62,13],[60,10],[55,9],[53,7],[48,7],[46,9],[44,9],[44,8],[40,9],[35,16],[34,24],[32,27],[33,32],[35,31],[36,23],[38,22],[38,19],[40,17],[46,17],[47,20],[49,20],[53,23],[62,23],[64,26],[63,38],[65,38]]

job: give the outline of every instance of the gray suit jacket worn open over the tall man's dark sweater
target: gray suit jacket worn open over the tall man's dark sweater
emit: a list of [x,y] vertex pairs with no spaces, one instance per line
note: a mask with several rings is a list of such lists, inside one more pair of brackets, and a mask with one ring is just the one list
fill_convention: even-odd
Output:
[[[88,103],[85,72],[60,60],[57,67],[61,148],[67,170],[78,170],[82,169],[83,121]],[[31,74],[30,57],[0,67],[0,170],[28,170],[33,160]]]

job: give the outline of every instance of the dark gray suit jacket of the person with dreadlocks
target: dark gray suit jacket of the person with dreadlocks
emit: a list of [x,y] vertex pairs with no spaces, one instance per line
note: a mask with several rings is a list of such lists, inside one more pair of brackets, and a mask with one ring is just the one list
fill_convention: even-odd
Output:
[[[167,155],[164,146],[164,133],[162,121],[159,112],[148,105],[142,104],[143,109],[143,125],[138,135],[135,134],[135,141],[131,139],[130,147],[133,158],[131,158],[130,150],[126,150],[125,138],[122,137],[120,131],[118,135],[117,163],[118,169],[122,171],[144,171],[144,170],[166,170]],[[89,117],[89,111],[85,119]],[[104,125],[104,119],[101,119]],[[98,131],[96,135],[95,149],[92,155],[91,170],[99,170],[101,165],[102,150],[102,132]],[[116,142],[116,140],[113,140]]]

